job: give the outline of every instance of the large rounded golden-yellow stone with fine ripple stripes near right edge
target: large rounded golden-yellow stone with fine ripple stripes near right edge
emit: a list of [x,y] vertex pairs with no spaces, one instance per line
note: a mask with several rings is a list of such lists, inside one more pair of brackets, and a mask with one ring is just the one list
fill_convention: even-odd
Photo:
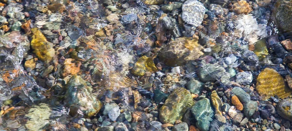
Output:
[[273,68],[265,68],[259,73],[256,90],[263,100],[275,95],[279,98],[287,98],[292,91],[285,85],[283,77]]

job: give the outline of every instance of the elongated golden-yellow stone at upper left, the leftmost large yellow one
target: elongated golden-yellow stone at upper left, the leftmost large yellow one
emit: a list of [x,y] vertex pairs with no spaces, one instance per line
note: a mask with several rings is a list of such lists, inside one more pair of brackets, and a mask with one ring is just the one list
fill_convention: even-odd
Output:
[[50,62],[55,56],[55,49],[53,48],[53,43],[48,42],[46,37],[37,28],[33,28],[31,41],[31,47],[34,49],[34,53],[37,57],[45,62]]

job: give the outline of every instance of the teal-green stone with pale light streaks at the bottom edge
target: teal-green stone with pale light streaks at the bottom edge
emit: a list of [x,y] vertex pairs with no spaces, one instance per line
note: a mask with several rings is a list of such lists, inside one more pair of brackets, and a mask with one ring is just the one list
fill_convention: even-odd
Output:
[[209,131],[210,123],[214,118],[214,112],[211,108],[210,100],[208,98],[199,100],[191,108],[191,112],[197,120],[196,126],[200,131]]

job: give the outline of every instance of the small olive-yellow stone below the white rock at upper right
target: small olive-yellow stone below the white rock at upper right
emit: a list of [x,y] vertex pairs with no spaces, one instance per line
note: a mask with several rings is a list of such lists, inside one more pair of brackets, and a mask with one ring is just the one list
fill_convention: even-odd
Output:
[[266,45],[266,39],[261,39],[255,43],[255,54],[258,57],[260,61],[262,61],[266,56],[269,54],[269,51],[267,49]]

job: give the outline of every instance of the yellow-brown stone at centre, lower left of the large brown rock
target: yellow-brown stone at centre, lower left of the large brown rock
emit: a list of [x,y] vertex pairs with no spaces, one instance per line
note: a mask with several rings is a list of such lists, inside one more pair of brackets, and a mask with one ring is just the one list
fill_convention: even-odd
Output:
[[155,72],[157,68],[151,57],[142,56],[135,63],[132,73],[137,76],[144,76],[145,72]]

